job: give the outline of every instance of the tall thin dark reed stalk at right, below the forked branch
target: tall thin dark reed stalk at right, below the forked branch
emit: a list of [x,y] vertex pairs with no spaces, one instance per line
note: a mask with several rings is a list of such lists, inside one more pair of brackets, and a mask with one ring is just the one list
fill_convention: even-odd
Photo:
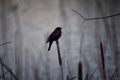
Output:
[[102,62],[103,77],[104,77],[104,80],[107,80],[107,78],[106,78],[106,71],[105,71],[104,51],[103,51],[103,46],[102,46],[102,42],[101,41],[100,41],[100,51],[101,51],[101,62]]

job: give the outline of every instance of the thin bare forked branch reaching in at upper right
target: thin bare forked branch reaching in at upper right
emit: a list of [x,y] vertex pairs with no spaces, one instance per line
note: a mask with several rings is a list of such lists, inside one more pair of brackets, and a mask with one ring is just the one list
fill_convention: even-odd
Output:
[[[112,18],[112,17],[116,17],[116,16],[120,16],[120,13],[117,14],[112,14],[109,16],[103,16],[103,17],[95,17],[95,18],[85,18],[84,16],[82,16],[79,12],[77,12],[76,10],[72,9],[72,11],[74,11],[75,13],[77,13],[80,17],[82,17],[82,19],[84,21],[88,21],[88,20],[97,20],[97,19],[107,19],[107,18]],[[83,22],[84,22],[83,21]]]

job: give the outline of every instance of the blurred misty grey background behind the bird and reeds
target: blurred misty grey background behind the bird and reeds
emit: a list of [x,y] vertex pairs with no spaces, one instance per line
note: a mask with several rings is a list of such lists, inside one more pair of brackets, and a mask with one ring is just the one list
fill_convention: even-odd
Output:
[[60,80],[56,44],[48,52],[45,43],[58,26],[64,78],[77,77],[80,60],[84,74],[92,73],[101,62],[100,39],[106,71],[119,66],[120,16],[83,23],[72,9],[86,18],[108,16],[120,13],[120,0],[0,0],[0,43],[12,41],[0,46],[0,56],[20,80]]

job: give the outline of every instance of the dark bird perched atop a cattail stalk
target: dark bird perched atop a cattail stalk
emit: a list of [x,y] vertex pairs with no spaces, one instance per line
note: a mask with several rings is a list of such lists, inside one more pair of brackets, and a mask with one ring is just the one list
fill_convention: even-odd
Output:
[[61,27],[57,27],[48,37],[46,41],[46,43],[49,42],[48,51],[50,50],[53,41],[57,41],[61,37],[61,34],[62,34],[61,29],[62,29]]

